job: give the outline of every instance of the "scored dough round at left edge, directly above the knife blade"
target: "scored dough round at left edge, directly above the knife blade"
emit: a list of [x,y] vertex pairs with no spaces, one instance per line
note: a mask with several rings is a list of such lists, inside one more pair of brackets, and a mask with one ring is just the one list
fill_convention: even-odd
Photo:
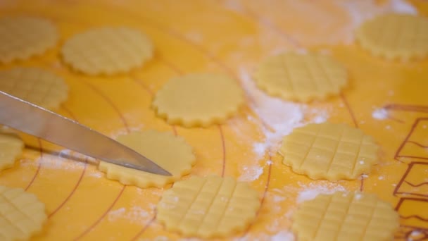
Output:
[[58,109],[68,97],[63,78],[42,68],[0,70],[0,90],[46,109]]

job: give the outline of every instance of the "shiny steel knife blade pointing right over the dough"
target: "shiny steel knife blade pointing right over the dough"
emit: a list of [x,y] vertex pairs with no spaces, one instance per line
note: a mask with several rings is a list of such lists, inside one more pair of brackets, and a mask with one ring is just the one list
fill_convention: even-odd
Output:
[[0,124],[127,168],[160,175],[168,171],[115,140],[40,106],[0,91]]

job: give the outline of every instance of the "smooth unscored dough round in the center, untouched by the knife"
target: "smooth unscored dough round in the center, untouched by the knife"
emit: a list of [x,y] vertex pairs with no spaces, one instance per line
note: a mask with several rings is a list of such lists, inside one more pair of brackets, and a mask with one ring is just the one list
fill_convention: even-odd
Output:
[[168,123],[207,127],[232,116],[244,103],[244,92],[227,75],[194,73],[172,78],[153,100],[153,108]]

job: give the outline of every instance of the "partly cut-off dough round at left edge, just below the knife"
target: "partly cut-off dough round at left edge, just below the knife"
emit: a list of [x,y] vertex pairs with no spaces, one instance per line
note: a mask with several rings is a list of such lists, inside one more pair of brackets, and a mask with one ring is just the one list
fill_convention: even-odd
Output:
[[15,160],[22,154],[23,140],[12,132],[4,132],[0,128],[0,171],[11,168]]

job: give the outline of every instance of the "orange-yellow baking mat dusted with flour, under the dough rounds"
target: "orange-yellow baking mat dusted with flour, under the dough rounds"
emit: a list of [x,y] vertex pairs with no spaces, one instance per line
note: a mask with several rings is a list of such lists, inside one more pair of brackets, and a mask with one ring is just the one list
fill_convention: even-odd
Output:
[[[59,113],[115,137],[130,130],[175,132],[194,147],[191,175],[232,175],[263,200],[258,218],[231,240],[287,240],[298,202],[319,192],[376,193],[401,215],[396,239],[428,237],[428,60],[401,63],[370,56],[353,43],[353,29],[387,11],[428,15],[427,1],[0,1],[1,16],[49,18],[59,45],[97,26],[145,32],[155,58],[129,75],[87,77],[65,66],[59,46],[41,57],[1,66],[39,66],[61,75],[70,96]],[[349,71],[349,85],[327,101],[308,105],[263,96],[251,82],[257,64],[285,50],[331,54]],[[169,79],[194,72],[227,73],[243,83],[246,106],[224,125],[170,126],[150,109]],[[303,116],[302,116],[303,115]],[[381,145],[379,165],[354,181],[314,181],[296,175],[275,153],[278,137],[301,123],[348,123]],[[156,222],[163,190],[107,180],[90,161],[72,161],[61,147],[22,135],[24,158],[0,173],[0,185],[23,187],[46,204],[49,220],[34,240],[180,240]],[[34,147],[30,147],[34,146]],[[41,152],[44,149],[46,151]],[[51,151],[48,151],[50,149]]]

